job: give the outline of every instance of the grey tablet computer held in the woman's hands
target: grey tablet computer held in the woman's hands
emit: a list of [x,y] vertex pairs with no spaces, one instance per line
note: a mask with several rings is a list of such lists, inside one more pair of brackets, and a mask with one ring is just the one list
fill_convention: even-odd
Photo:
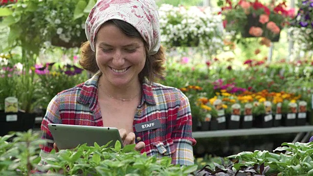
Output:
[[59,150],[74,149],[79,144],[85,143],[88,146],[94,146],[94,142],[103,146],[112,141],[109,146],[114,146],[117,140],[123,147],[117,128],[65,124],[48,124],[48,128]]

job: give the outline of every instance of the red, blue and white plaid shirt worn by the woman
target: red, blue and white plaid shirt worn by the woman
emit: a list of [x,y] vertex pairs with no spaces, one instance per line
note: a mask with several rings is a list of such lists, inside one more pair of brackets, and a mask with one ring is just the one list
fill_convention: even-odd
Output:
[[[97,96],[99,74],[74,88],[58,93],[49,103],[41,130],[43,139],[53,140],[49,123],[103,126]],[[136,132],[134,125],[159,119],[161,127]],[[105,122],[104,122],[105,124]],[[194,164],[191,111],[188,98],[177,88],[160,84],[142,84],[142,98],[134,116],[135,143],[143,141],[148,156],[172,157],[173,164]],[[138,141],[139,140],[139,141]],[[53,143],[42,147],[42,156],[53,149]]]

